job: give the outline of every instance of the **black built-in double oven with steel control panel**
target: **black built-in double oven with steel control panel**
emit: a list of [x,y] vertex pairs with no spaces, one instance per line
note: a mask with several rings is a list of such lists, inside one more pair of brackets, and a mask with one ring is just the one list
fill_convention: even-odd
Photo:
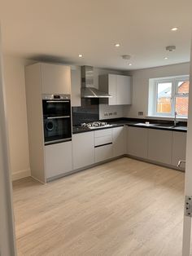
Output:
[[45,145],[72,140],[70,95],[42,95]]

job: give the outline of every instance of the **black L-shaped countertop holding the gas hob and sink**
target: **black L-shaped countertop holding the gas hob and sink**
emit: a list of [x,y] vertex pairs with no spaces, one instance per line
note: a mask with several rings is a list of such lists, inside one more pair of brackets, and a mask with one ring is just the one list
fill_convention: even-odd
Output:
[[157,129],[157,130],[173,130],[173,131],[181,131],[181,132],[187,132],[187,126],[186,123],[180,122],[177,124],[177,126],[173,126],[172,121],[150,121],[150,124],[147,125],[146,121],[148,120],[134,120],[134,119],[128,119],[128,120],[108,120],[107,123],[111,126],[108,127],[100,127],[100,128],[94,128],[89,129],[89,127],[81,127],[81,126],[73,126],[72,127],[72,134],[78,134],[82,132],[88,132],[93,130],[102,130],[102,129],[110,129],[118,126],[134,126],[134,127],[140,127],[140,128],[150,128],[150,129]]

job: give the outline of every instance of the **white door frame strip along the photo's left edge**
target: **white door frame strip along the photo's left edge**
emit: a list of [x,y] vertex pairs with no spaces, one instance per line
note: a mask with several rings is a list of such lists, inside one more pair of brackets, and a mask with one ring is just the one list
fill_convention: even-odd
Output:
[[15,256],[15,223],[12,206],[10,151],[5,99],[0,24],[0,255]]

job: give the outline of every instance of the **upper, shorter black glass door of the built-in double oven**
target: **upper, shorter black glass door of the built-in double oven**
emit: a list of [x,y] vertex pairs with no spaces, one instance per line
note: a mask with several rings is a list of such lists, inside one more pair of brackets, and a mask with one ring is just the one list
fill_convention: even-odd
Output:
[[44,117],[68,117],[71,115],[69,99],[43,99],[42,108]]

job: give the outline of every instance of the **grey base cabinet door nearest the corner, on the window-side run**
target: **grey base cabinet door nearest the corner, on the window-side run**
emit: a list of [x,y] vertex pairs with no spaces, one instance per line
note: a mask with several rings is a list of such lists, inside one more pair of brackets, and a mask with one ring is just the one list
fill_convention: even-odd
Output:
[[128,154],[133,157],[147,158],[148,129],[129,126]]

